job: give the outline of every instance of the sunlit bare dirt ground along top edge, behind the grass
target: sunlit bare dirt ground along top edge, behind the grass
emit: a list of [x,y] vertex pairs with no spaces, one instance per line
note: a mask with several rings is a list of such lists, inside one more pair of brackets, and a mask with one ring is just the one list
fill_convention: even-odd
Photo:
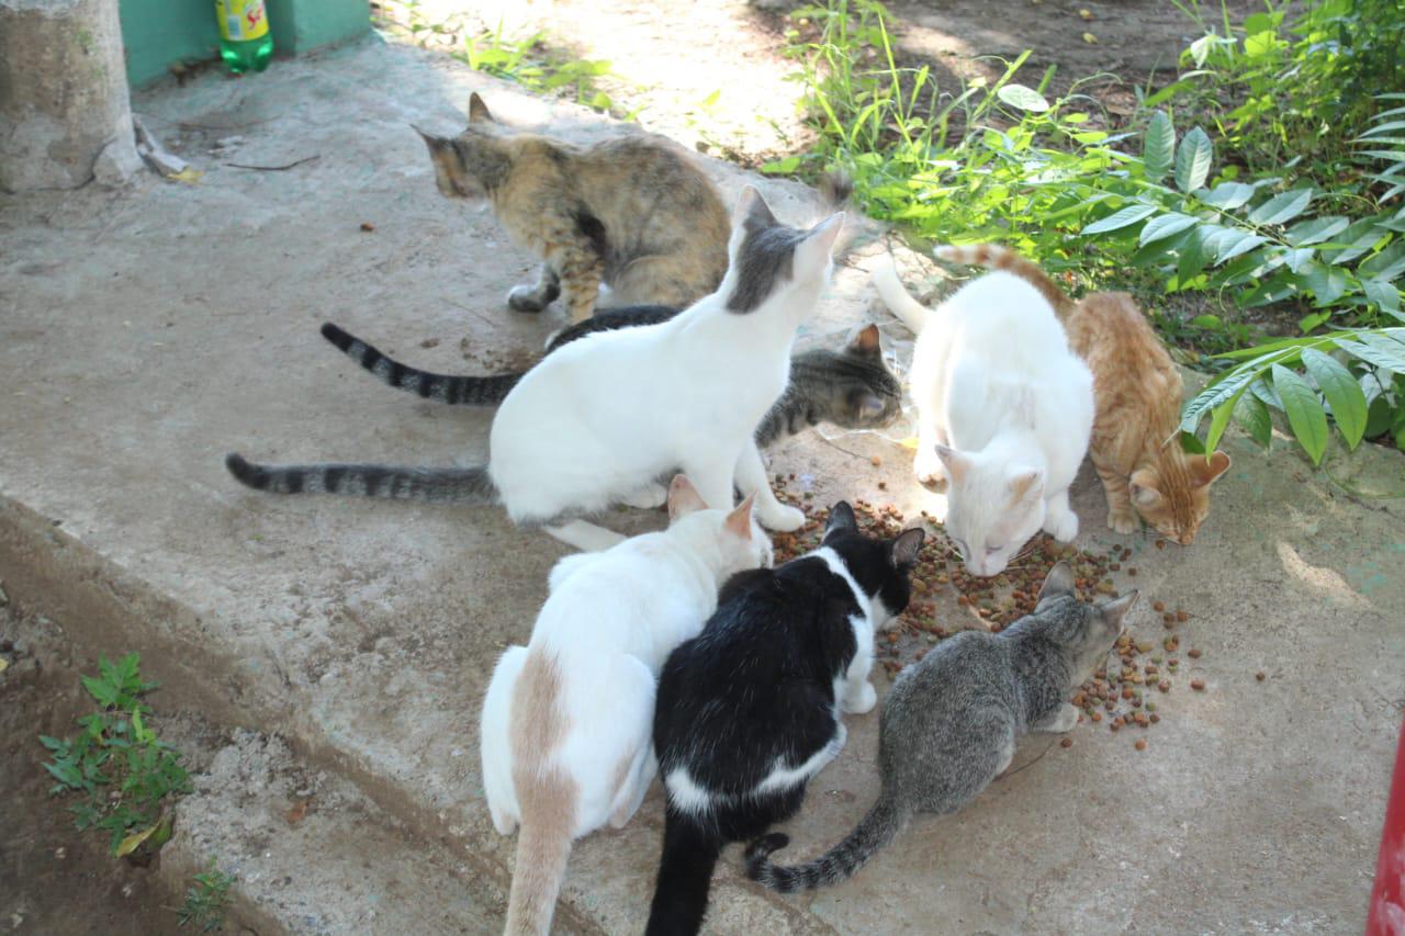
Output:
[[[441,32],[393,31],[445,51],[461,49],[465,37],[499,28],[509,39],[541,34],[548,51],[608,63],[610,73],[594,84],[610,94],[615,115],[632,114],[651,129],[754,167],[804,152],[811,139],[799,110],[802,89],[791,79],[797,62],[785,53],[790,44],[818,37],[812,20],[790,15],[804,6],[423,0],[412,14],[400,0],[384,0],[377,14],[398,27],[412,20],[440,25]],[[1201,35],[1200,27],[1168,0],[887,6],[898,63],[929,67],[943,101],[958,94],[962,82],[999,77],[1002,60],[1028,49],[1031,55],[1014,80],[1035,86],[1052,69],[1050,94],[1066,93],[1078,82],[1093,110],[1106,108],[1113,124],[1132,112],[1135,87],[1169,83],[1179,51]],[[1225,4],[1232,21],[1260,7],[1253,0]]]

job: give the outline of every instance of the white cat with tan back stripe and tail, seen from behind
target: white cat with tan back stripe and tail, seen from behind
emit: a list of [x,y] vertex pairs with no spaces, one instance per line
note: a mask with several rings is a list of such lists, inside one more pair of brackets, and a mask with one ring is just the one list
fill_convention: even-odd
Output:
[[552,569],[531,642],[503,654],[483,700],[488,808],[503,835],[521,826],[507,933],[549,932],[572,842],[639,808],[665,659],[702,630],[729,575],[770,561],[750,498],[708,510],[679,475],[667,530]]

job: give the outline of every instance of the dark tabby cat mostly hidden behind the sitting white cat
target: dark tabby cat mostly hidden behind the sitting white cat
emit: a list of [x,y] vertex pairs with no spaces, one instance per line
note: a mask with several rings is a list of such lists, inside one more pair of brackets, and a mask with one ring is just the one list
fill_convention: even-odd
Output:
[[[547,353],[551,354],[562,344],[596,332],[658,325],[677,313],[679,309],[663,305],[603,309],[584,322],[558,332],[547,343]],[[322,326],[322,336],[391,386],[441,403],[496,406],[525,375],[524,372],[488,377],[430,374],[391,360],[330,322]],[[843,350],[818,349],[791,357],[790,384],[756,429],[756,444],[764,448],[818,423],[833,423],[843,429],[878,429],[891,424],[899,416],[901,408],[902,385],[884,363],[878,326],[870,325]]]

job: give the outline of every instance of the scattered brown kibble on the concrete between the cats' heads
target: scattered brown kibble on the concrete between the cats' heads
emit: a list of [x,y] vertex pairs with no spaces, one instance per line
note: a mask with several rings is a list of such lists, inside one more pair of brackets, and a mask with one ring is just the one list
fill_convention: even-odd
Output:
[[[777,475],[777,496],[805,510],[809,521],[795,533],[783,533],[773,538],[777,565],[818,547],[829,514],[828,507],[812,503],[808,492],[799,495],[791,492],[787,485],[794,481],[794,475]],[[1132,557],[1127,547],[1113,545],[1109,552],[1096,554],[1061,545],[1041,534],[1026,547],[1009,569],[989,579],[978,579],[967,575],[960,554],[926,512],[919,517],[906,519],[892,506],[861,499],[853,500],[851,505],[860,528],[870,535],[895,537],[905,526],[922,526],[929,534],[913,572],[912,602],[877,639],[877,662],[889,677],[902,672],[908,663],[920,661],[933,645],[961,630],[984,628],[999,632],[1030,614],[1038,599],[1040,586],[1059,559],[1073,566],[1078,594],[1085,602],[1094,597],[1106,599],[1125,590],[1118,589],[1109,578],[1113,572],[1131,579],[1137,576],[1137,568],[1127,565]],[[1158,540],[1156,548],[1162,547],[1165,541]],[[1128,583],[1127,587],[1132,585]],[[954,607],[944,600],[953,596]],[[1148,600],[1146,596],[1142,600]],[[939,602],[943,602],[940,621]],[[1182,635],[1177,627],[1187,623],[1190,614],[1179,607],[1168,609],[1163,602],[1152,602],[1151,607],[1165,627],[1165,637],[1156,642],[1124,632],[1117,639],[1107,666],[1099,669],[1073,694],[1072,703],[1083,711],[1082,721],[1106,724],[1109,731],[1114,732],[1123,728],[1148,729],[1161,721],[1156,698],[1172,691],[1177,677],[1184,672],[1186,663],[1180,659]],[[1201,651],[1186,648],[1184,655],[1200,659]],[[1190,687],[1203,691],[1205,683],[1201,679],[1191,679]],[[1068,748],[1072,739],[1064,738],[1061,743]],[[1138,738],[1134,746],[1137,750],[1145,750],[1145,738]]]

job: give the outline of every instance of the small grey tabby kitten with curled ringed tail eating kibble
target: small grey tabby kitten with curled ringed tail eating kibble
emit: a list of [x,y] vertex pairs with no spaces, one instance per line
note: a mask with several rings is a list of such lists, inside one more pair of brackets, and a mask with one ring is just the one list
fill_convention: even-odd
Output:
[[746,849],[747,877],[781,892],[837,884],[915,814],[964,808],[1010,766],[1020,735],[1078,724],[1068,697],[1107,658],[1135,602],[1137,592],[1128,592],[1083,604],[1073,571],[1059,562],[1034,614],[999,634],[962,631],[905,669],[882,708],[878,802],[843,842],[805,864],[771,864],[771,852],[790,839],[759,838]]

